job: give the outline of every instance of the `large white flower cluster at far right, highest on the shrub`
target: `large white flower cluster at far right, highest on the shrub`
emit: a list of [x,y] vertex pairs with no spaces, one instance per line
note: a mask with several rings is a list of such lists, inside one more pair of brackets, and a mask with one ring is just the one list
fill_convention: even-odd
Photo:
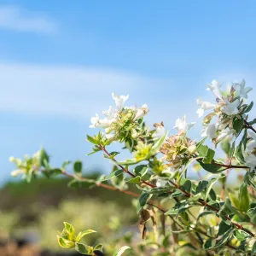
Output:
[[[200,108],[196,113],[199,117],[203,116],[205,111],[213,109],[213,112],[207,114],[203,120],[204,127],[201,136],[209,137],[215,144],[223,140],[224,137],[235,134],[234,119],[243,118],[242,103],[244,99],[247,99],[247,93],[252,90],[250,87],[245,87],[245,80],[242,80],[241,83],[233,83],[227,92],[221,88],[222,84],[216,80],[207,85],[207,90],[211,90],[216,96],[216,103],[197,99]],[[214,117],[217,121],[211,124]]]

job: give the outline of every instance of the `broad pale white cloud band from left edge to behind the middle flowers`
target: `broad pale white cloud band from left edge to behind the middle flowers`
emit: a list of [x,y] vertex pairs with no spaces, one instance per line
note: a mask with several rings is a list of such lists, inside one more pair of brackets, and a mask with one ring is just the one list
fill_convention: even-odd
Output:
[[142,101],[142,97],[148,101],[152,98],[150,90],[158,84],[166,84],[165,81],[107,68],[13,63],[0,63],[0,77],[0,111],[79,119],[100,113],[113,104],[112,92],[130,93],[129,102],[133,105]]

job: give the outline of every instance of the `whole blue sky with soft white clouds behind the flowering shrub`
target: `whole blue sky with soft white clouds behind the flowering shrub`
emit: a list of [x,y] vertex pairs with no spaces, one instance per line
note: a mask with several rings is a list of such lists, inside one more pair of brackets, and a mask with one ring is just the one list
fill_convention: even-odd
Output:
[[[54,165],[84,160],[90,116],[111,93],[147,103],[148,122],[187,114],[211,99],[212,79],[244,78],[256,89],[255,1],[0,1],[0,181],[9,155],[44,146]],[[255,98],[255,91],[251,99]],[[254,111],[255,113],[255,111]],[[200,137],[200,125],[192,131]]]

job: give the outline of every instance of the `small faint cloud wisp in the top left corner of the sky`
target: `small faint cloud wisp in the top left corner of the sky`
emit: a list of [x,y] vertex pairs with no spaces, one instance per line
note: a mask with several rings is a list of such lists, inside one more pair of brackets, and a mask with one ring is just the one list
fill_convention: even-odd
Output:
[[0,29],[18,32],[51,33],[55,22],[38,12],[16,6],[0,6]]

